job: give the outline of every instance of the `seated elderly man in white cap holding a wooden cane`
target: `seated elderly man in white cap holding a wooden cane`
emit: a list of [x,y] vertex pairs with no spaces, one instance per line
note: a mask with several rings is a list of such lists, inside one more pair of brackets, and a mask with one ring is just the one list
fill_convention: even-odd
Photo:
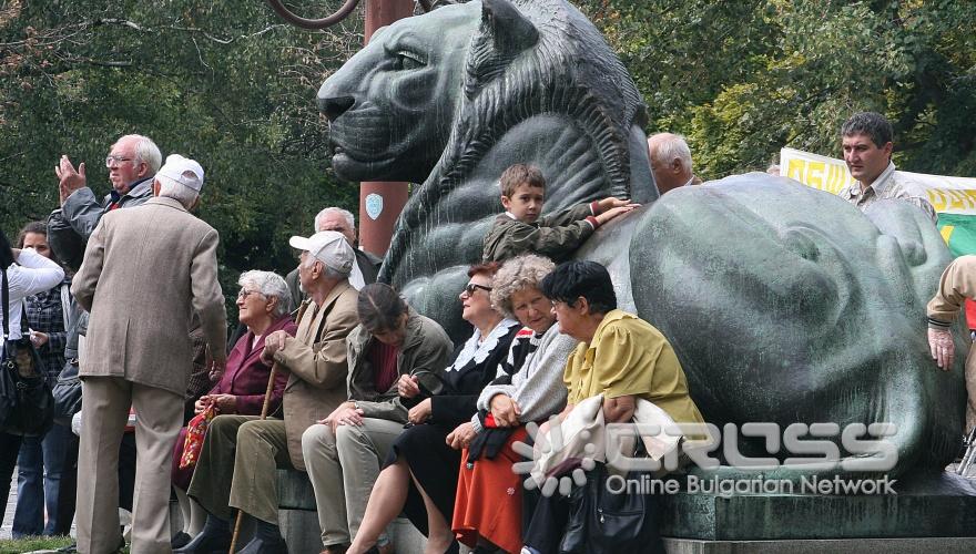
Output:
[[304,471],[302,433],[347,398],[346,336],[358,324],[357,294],[348,281],[353,247],[334,230],[292,237],[289,244],[302,250],[298,278],[308,298],[298,309],[295,336],[268,335],[263,353],[291,372],[283,419],[214,418],[186,491],[207,511],[206,524],[176,553],[226,551],[236,507],[255,520],[254,540],[238,554],[287,554],[278,530],[275,468]]

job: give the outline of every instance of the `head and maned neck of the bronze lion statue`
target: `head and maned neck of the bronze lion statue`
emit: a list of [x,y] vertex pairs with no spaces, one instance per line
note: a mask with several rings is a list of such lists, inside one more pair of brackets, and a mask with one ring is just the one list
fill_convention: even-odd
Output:
[[592,23],[560,0],[485,0],[397,21],[318,101],[339,176],[423,181],[384,263],[382,278],[398,286],[416,289],[445,270],[462,278],[512,163],[542,170],[547,211],[658,196],[637,86]]

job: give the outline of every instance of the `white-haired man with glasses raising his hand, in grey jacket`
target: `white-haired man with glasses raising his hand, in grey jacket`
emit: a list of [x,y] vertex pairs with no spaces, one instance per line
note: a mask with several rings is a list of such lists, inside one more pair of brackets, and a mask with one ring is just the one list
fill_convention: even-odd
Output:
[[61,207],[48,218],[48,244],[58,259],[77,269],[88,238],[102,215],[150,199],[152,179],[162,163],[163,156],[152,140],[142,135],[122,136],[105,158],[112,191],[99,203],[88,186],[84,162],[75,170],[71,160],[62,155],[54,167]]

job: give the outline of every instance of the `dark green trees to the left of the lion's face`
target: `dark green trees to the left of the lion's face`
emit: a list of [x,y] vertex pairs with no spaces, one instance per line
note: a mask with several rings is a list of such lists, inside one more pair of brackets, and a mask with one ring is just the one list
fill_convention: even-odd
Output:
[[[295,265],[286,238],[357,187],[325,156],[318,84],[362,44],[354,14],[331,31],[281,21],[264,2],[7,1],[0,8],[0,224],[13,234],[58,205],[53,167],[102,160],[140,133],[206,172],[199,215],[221,233],[222,276]],[[230,269],[230,271],[227,271]]]

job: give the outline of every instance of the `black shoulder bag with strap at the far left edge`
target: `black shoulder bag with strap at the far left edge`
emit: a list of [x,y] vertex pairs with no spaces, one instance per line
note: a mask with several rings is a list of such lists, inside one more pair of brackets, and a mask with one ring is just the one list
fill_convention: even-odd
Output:
[[11,434],[47,433],[54,424],[54,398],[44,379],[41,359],[30,341],[27,315],[21,338],[10,340],[10,288],[2,273],[3,355],[0,357],[0,430]]

